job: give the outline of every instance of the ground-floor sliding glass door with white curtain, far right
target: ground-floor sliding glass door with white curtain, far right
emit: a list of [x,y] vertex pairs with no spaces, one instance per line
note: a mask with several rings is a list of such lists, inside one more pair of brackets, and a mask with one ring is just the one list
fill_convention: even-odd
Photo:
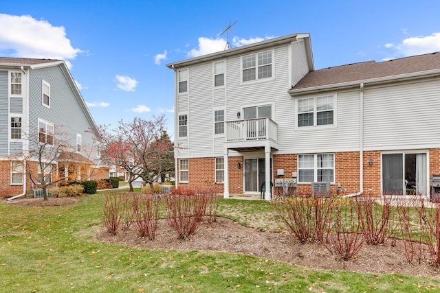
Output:
[[426,153],[382,154],[384,194],[425,196],[428,193]]

